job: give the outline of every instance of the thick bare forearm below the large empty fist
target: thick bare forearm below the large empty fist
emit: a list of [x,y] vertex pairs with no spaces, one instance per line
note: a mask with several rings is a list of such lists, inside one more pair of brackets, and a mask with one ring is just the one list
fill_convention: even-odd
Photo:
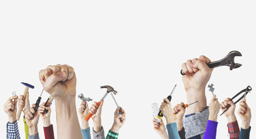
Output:
[[76,114],[75,97],[56,99],[55,103],[58,138],[82,138]]

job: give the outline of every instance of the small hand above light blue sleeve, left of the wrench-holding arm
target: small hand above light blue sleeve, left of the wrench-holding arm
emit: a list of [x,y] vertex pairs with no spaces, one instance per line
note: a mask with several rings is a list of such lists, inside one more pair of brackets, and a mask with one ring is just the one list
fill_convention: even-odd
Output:
[[163,116],[166,119],[166,124],[174,122],[173,112],[171,111],[171,103],[167,98],[163,99],[162,105],[160,105],[160,111],[162,111]]

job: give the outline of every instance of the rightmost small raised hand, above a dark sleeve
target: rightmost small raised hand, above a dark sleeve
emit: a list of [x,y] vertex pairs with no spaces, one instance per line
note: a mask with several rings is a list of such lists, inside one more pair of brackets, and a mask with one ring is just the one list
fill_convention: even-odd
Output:
[[251,109],[248,107],[246,103],[246,99],[243,99],[239,103],[239,109],[237,111],[237,114],[240,116],[242,119],[242,128],[243,129],[248,129],[250,127],[250,122],[251,122]]

